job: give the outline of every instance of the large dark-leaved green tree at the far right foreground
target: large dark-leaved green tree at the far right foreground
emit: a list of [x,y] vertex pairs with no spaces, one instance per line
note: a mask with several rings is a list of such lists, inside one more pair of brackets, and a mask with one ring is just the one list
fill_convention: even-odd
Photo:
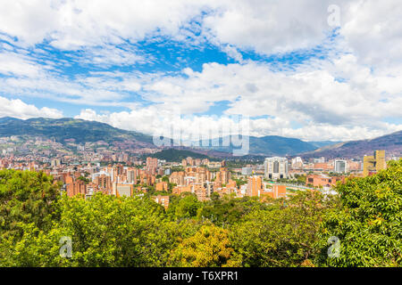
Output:
[[[347,179],[336,190],[340,206],[329,211],[322,222],[318,263],[402,265],[402,159],[390,161],[388,169],[377,175]],[[328,255],[331,237],[340,241],[339,257]]]

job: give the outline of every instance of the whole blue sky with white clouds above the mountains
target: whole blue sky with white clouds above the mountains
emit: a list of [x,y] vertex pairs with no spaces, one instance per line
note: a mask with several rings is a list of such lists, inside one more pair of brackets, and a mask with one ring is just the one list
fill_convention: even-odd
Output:
[[0,4],[0,117],[145,134],[240,118],[305,141],[402,130],[399,0]]

